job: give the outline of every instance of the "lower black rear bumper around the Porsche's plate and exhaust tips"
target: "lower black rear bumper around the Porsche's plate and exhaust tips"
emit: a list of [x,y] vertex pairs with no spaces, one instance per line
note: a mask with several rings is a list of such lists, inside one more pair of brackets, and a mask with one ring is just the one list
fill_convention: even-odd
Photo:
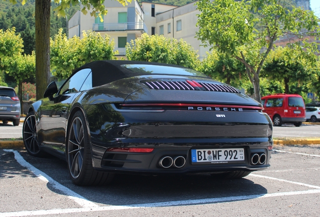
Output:
[[[263,144],[263,146],[260,146]],[[269,161],[271,150],[268,150],[269,142],[254,144],[254,145],[236,145],[236,148],[245,149],[245,160],[243,162],[209,162],[209,163],[192,163],[191,150],[193,149],[210,149],[208,146],[193,146],[186,147],[177,145],[150,145],[154,147],[151,153],[126,153],[126,152],[103,152],[101,147],[93,146],[94,149],[94,166],[98,170],[115,172],[115,173],[139,173],[139,174],[188,174],[188,173],[214,173],[225,171],[259,171],[270,167]],[[167,146],[167,147],[166,147]],[[170,147],[171,146],[171,147]],[[133,146],[137,147],[137,146]],[[139,146],[138,146],[139,147]],[[142,146],[141,146],[142,147]],[[143,146],[146,147],[146,146]],[[157,147],[157,148],[155,148]],[[212,147],[211,149],[235,148],[234,145],[223,145],[219,147]],[[266,161],[263,164],[253,165],[251,158],[254,154],[265,154]],[[186,161],[181,168],[177,168],[174,164],[169,168],[164,168],[159,165],[159,161],[163,157],[183,157]]]

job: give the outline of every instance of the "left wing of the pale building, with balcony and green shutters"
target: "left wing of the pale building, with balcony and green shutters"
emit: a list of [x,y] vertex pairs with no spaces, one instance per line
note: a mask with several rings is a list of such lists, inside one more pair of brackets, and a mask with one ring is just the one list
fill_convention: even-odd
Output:
[[144,13],[137,1],[123,7],[117,1],[106,0],[105,7],[108,14],[102,17],[103,21],[99,17],[92,17],[90,12],[87,15],[81,11],[76,12],[68,22],[68,37],[82,38],[83,31],[88,30],[99,32],[102,36],[107,34],[115,41],[115,50],[119,51],[120,56],[124,56],[127,42],[148,33]]

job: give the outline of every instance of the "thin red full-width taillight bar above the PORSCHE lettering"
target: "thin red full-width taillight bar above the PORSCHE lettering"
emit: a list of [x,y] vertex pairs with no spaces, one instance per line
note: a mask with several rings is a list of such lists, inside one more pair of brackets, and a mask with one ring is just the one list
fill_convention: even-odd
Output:
[[251,110],[264,110],[263,107],[260,106],[248,106],[248,105],[222,105],[222,104],[189,104],[189,103],[120,103],[120,106],[123,107],[133,107],[133,106],[139,106],[139,107],[144,107],[144,106],[176,106],[176,107],[181,107],[181,106],[199,106],[199,107],[226,107],[226,108],[248,108]]

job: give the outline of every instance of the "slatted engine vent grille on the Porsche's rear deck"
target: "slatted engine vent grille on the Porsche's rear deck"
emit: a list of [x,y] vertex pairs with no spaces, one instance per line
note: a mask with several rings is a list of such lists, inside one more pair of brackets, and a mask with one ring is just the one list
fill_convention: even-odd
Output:
[[[216,92],[232,92],[240,93],[237,89],[227,85],[208,83],[208,82],[187,82],[187,81],[142,81],[141,83],[150,89],[159,90],[204,90]],[[198,86],[191,85],[193,83],[200,84]]]

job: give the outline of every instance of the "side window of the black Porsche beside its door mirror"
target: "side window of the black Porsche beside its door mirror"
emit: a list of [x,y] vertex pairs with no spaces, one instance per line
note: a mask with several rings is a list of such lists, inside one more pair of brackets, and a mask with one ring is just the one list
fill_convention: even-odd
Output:
[[[82,69],[76,72],[72,77],[70,77],[60,88],[59,94],[66,94],[71,92],[78,92],[80,91],[81,87],[84,84],[84,81],[87,79],[88,75],[90,74],[91,69]],[[91,79],[92,80],[92,79]],[[90,82],[88,80],[88,82]],[[91,81],[92,85],[92,81]],[[88,86],[88,83],[87,83]]]

